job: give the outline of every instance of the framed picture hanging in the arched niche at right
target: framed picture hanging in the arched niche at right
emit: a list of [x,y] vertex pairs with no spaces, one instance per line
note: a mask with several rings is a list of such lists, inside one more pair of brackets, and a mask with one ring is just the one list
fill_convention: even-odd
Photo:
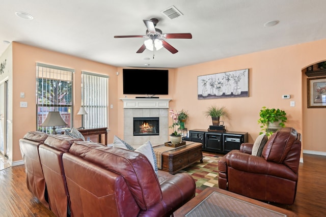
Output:
[[308,108],[326,107],[326,77],[308,78]]

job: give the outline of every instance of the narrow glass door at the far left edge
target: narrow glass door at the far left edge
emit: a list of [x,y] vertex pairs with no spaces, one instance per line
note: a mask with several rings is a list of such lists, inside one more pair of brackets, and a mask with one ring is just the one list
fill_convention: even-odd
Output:
[[6,156],[7,147],[7,99],[8,99],[8,81],[0,84],[0,152]]

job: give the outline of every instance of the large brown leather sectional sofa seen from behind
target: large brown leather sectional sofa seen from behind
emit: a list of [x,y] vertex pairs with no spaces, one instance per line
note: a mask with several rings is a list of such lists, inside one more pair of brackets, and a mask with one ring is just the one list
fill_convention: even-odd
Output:
[[57,216],[170,216],[195,196],[190,175],[156,175],[139,152],[41,132],[19,142],[28,189]]

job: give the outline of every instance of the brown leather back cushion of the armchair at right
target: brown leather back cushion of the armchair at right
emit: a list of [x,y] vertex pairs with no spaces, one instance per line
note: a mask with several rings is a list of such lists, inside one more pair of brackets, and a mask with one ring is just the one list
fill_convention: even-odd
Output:
[[295,129],[281,128],[270,136],[263,148],[262,156],[266,161],[283,163],[296,138]]

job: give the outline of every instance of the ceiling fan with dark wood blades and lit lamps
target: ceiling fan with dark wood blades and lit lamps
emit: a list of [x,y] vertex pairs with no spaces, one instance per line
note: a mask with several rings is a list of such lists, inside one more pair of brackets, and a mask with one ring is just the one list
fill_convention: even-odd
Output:
[[143,20],[146,25],[146,36],[115,36],[114,38],[148,38],[144,44],[139,48],[136,53],[142,53],[147,48],[151,51],[154,49],[159,50],[165,47],[171,53],[178,52],[172,45],[166,42],[164,39],[192,39],[191,33],[162,33],[162,30],[155,28],[158,23],[158,19],[152,18],[150,20]]

